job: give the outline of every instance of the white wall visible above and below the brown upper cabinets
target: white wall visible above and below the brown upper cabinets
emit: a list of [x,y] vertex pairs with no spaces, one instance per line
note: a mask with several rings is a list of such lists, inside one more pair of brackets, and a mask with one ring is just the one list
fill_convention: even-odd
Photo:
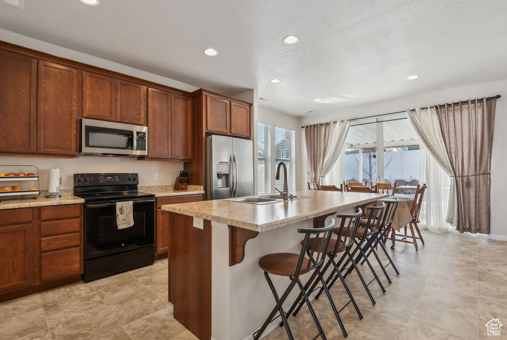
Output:
[[[185,91],[195,91],[198,89],[195,86],[161,77],[157,74],[141,71],[109,60],[48,44],[4,29],[0,29],[0,40],[63,58],[80,61],[89,65],[121,72],[123,74],[131,75],[132,77],[145,79]],[[64,174],[64,182],[60,186],[61,189],[73,188],[73,174],[84,172],[137,172],[139,173],[140,185],[171,185],[174,183],[174,179],[178,175],[179,170],[183,169],[183,162],[137,161],[136,159],[129,158],[92,156],[81,156],[76,159],[0,156],[0,165],[37,166],[41,175],[41,190],[47,190],[47,174],[49,169],[53,167],[60,168],[60,171]],[[164,172],[166,179],[155,180],[155,172]]]

